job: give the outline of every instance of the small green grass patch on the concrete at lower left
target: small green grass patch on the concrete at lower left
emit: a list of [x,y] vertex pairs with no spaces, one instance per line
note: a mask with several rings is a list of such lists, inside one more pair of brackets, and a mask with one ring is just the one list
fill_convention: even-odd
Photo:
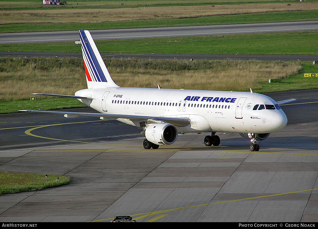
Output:
[[[70,182],[69,177],[57,174],[31,174],[0,172],[0,195],[38,191],[44,188],[65,185]],[[59,178],[59,180],[57,180]]]

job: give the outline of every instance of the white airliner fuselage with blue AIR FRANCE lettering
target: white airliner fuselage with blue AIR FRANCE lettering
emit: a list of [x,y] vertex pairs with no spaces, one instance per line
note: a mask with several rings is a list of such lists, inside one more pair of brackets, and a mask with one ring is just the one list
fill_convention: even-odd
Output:
[[[259,134],[287,124],[285,113],[278,105],[273,108],[273,99],[250,92],[118,87],[83,89],[75,95],[93,97],[79,100],[103,114],[189,118],[189,125],[176,126],[179,133]],[[255,110],[255,105],[260,108]],[[117,120],[144,127],[139,121]]]

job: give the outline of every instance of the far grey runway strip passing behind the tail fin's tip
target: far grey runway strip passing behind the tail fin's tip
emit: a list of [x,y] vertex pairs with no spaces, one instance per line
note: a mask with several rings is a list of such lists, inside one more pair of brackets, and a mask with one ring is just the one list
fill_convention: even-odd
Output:
[[[317,30],[318,21],[90,30],[94,40]],[[1,33],[0,44],[79,41],[78,31]]]

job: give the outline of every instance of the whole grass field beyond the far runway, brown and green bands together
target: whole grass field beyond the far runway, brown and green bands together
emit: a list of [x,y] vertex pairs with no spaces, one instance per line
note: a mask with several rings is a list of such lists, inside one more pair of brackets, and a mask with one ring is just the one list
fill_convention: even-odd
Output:
[[[6,4],[11,2],[4,3],[3,5],[0,4],[2,9],[5,9]],[[78,5],[75,3],[72,7],[70,5],[65,7],[42,5],[39,6],[41,10],[21,10],[20,8],[18,8],[18,10],[0,10],[0,32],[144,28],[318,20],[318,3],[316,1],[290,1],[284,3],[281,1],[252,1],[248,3],[245,1],[235,2],[231,0],[221,1],[219,3],[198,1],[198,3],[192,3],[194,4],[192,6],[184,6],[184,4],[170,6],[170,4],[167,3],[169,7],[147,7],[147,9],[136,8],[135,2],[129,5],[130,8],[120,7],[117,2],[116,6],[119,7],[117,9],[103,9],[104,5],[97,1],[93,1],[92,3],[102,5],[88,4],[87,7],[90,9],[79,9],[78,6],[81,5],[82,2],[78,3]],[[125,2],[125,4],[127,4],[127,2]],[[147,6],[158,6],[158,4],[155,3],[146,4]],[[204,4],[204,6],[200,6],[200,4]],[[12,4],[10,4],[10,6],[11,5]],[[95,7],[98,7],[98,9],[94,9]],[[28,18],[28,20],[25,20],[25,18]],[[47,20],[47,18],[50,18],[50,20]]]

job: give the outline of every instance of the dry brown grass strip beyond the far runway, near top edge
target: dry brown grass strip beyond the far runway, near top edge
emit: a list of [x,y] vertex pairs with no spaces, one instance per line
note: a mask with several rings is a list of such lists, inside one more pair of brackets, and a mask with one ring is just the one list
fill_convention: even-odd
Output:
[[[85,10],[3,10],[0,11],[0,24],[10,23],[98,23],[140,19],[169,19],[230,15],[243,13],[263,13],[295,10],[318,10],[317,2],[295,2],[267,4],[232,4],[213,6],[178,6],[85,9]],[[85,15],[85,16],[84,16]]]

